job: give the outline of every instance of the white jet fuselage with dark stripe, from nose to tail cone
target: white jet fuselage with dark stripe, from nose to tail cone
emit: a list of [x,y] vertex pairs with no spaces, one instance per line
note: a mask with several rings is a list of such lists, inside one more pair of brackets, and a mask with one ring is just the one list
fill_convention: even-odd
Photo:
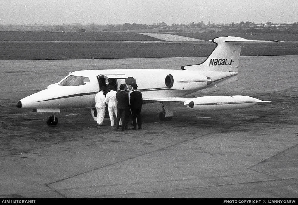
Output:
[[[142,92],[143,98],[150,99],[153,96],[184,96],[206,88],[211,82],[226,79],[236,74],[169,69],[75,71],[58,82],[57,85],[23,98],[19,107],[32,109],[95,107],[94,96],[99,92],[100,83],[98,78],[100,76],[105,79],[116,80],[117,88],[120,84],[125,83],[125,78],[133,78],[136,80],[138,90]],[[73,76],[83,77],[86,82],[77,83]],[[74,80],[69,80],[69,78]],[[166,82],[166,79],[168,82]],[[70,82],[71,80],[74,83]]]

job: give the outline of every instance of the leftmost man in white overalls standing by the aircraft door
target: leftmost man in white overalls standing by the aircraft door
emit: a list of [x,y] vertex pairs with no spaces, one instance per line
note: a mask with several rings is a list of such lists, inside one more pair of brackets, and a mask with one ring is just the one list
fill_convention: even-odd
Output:
[[95,108],[97,111],[97,127],[103,126],[105,118],[105,90],[104,86],[100,87],[100,92],[95,95]]

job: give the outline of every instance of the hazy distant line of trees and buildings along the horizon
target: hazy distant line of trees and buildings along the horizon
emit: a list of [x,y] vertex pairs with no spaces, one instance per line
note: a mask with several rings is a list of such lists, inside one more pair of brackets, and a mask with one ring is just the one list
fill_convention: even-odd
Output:
[[62,25],[43,25],[43,24],[32,24],[32,25],[4,25],[0,24],[0,31],[16,31],[16,32],[100,32],[100,31],[134,31],[134,30],[148,30],[148,32],[156,31],[191,31],[191,32],[217,32],[217,31],[228,31],[228,32],[245,32],[245,33],[298,33],[298,22],[293,24],[277,24],[277,23],[259,23],[242,21],[240,23],[230,24],[214,24],[210,21],[205,24],[203,21],[189,24],[176,24],[167,25],[165,22],[147,24],[137,23],[124,23],[124,24],[106,24],[100,25],[91,23],[88,25],[76,23],[76,24],[62,24]]

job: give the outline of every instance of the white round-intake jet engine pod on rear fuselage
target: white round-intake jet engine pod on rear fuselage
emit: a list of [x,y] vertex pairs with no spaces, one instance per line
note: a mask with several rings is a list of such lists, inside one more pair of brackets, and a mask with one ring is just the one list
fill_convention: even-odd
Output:
[[174,90],[196,90],[209,85],[211,79],[198,73],[187,72],[169,74],[164,82],[168,88]]

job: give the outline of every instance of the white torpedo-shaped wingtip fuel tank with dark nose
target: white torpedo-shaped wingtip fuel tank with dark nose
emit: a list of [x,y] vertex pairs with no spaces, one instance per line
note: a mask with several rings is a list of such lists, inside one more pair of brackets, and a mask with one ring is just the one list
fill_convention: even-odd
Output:
[[203,96],[185,101],[184,105],[190,109],[207,111],[220,109],[240,109],[251,107],[258,102],[270,101],[262,101],[249,96]]

